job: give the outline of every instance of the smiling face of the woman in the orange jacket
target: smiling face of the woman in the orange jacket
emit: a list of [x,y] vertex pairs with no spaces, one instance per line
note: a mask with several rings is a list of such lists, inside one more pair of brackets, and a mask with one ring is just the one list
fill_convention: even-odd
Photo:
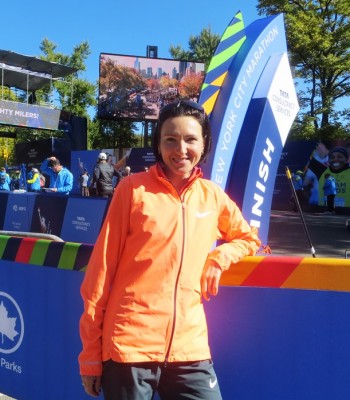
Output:
[[191,116],[169,118],[160,132],[159,152],[170,180],[189,178],[204,150],[202,127]]

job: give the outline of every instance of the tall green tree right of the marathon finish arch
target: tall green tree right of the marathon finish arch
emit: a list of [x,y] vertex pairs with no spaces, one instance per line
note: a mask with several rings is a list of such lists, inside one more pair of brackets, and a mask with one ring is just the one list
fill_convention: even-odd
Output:
[[284,13],[289,57],[298,91],[300,123],[295,135],[343,137],[349,133],[344,115],[335,103],[350,94],[349,0],[259,0],[262,15]]

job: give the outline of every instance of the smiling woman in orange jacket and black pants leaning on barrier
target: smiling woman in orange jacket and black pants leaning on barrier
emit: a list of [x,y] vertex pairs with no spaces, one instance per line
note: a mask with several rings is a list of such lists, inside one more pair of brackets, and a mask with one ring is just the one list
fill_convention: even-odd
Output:
[[201,177],[210,145],[201,106],[168,104],[154,137],[157,164],[117,186],[81,287],[79,364],[91,396],[102,388],[107,400],[221,399],[202,299],[260,241]]

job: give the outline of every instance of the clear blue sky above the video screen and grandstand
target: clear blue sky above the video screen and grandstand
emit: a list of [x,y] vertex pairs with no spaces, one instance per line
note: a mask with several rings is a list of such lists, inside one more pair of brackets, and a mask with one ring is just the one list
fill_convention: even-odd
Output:
[[12,0],[1,5],[1,50],[40,56],[47,38],[56,51],[71,55],[88,42],[91,54],[80,78],[96,82],[100,53],[146,56],[147,45],[158,47],[159,58],[171,58],[169,47],[188,49],[191,35],[210,27],[222,35],[237,11],[245,25],[260,18],[255,0],[118,1]]

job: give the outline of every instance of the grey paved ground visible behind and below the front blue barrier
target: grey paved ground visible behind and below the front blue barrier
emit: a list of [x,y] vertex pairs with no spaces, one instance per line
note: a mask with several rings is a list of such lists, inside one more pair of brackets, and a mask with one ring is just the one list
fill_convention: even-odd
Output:
[[[345,258],[346,250],[350,253],[348,219],[350,215],[271,211],[268,245],[272,255],[312,257],[312,245],[316,258]],[[0,400],[14,399],[0,393]]]

